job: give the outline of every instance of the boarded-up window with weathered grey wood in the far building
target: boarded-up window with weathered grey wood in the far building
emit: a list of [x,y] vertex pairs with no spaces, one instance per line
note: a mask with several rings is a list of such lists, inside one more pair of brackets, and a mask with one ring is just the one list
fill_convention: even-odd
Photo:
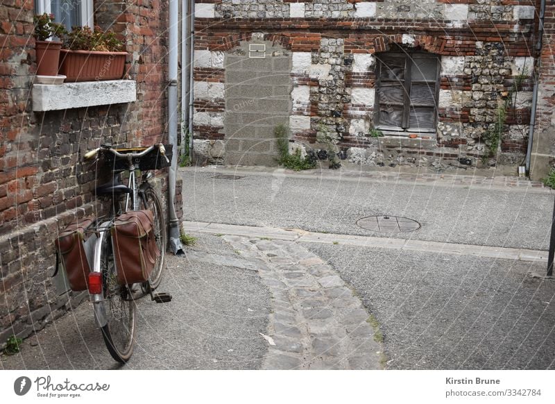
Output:
[[439,58],[426,52],[376,55],[375,121],[382,131],[409,135],[436,128]]

